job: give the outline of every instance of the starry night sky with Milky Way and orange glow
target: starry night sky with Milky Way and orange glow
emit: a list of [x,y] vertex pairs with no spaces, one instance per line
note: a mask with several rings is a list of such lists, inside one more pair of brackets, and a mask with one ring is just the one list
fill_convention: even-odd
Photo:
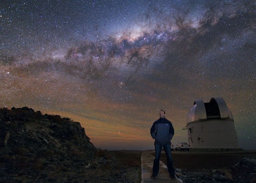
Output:
[[0,107],[74,119],[102,149],[153,149],[160,109],[187,142],[217,96],[256,149],[255,1],[2,0],[0,68]]

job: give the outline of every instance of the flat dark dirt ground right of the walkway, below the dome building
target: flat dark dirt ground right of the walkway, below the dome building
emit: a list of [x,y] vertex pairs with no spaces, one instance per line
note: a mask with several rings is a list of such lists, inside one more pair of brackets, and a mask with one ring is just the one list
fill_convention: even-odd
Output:
[[[155,153],[151,153],[155,156]],[[243,153],[200,153],[200,152],[180,152],[172,151],[173,165],[175,168],[181,168],[185,171],[203,171],[219,168],[227,168],[238,163],[241,158],[256,158],[256,152]],[[160,160],[167,165],[165,152],[161,153]]]

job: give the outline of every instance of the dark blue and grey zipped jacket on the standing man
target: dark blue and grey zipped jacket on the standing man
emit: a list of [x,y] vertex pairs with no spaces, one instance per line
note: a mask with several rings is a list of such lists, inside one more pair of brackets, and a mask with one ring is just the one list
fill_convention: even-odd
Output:
[[166,118],[159,118],[150,129],[150,134],[155,139],[154,144],[171,144],[174,135],[172,123]]

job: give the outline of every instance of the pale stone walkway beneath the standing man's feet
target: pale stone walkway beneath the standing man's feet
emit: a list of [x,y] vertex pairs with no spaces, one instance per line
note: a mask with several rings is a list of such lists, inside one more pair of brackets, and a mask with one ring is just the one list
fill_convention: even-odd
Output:
[[[169,176],[167,166],[160,161],[159,163],[159,173],[158,176],[155,179],[151,179],[151,175],[153,174],[152,168],[153,168],[153,161],[155,159],[154,156],[151,155],[154,151],[148,150],[148,151],[142,151],[141,153],[141,182],[147,183],[147,182],[173,182],[173,183],[182,183],[182,180],[176,179],[172,180]],[[162,154],[165,156],[165,154]]]

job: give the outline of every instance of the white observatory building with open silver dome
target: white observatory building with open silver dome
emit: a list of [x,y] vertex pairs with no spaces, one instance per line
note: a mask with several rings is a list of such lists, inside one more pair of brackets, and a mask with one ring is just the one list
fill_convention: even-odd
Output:
[[196,100],[187,114],[188,142],[193,149],[238,149],[234,118],[222,97]]

